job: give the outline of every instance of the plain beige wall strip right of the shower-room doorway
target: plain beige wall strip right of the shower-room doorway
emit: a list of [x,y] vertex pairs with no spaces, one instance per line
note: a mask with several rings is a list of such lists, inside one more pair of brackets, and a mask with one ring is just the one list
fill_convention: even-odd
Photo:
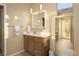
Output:
[[73,8],[74,55],[79,56],[79,4],[74,4]]

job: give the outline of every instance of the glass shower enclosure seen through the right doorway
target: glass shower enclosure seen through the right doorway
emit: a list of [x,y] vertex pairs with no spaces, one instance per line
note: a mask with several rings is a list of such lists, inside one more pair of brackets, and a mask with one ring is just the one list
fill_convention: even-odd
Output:
[[59,39],[70,39],[71,37],[71,17],[58,18]]

